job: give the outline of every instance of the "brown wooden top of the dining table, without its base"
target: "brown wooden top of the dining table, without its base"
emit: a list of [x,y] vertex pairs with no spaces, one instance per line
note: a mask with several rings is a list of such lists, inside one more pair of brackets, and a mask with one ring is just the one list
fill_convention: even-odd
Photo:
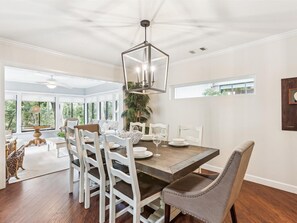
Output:
[[[140,141],[135,146],[144,146],[155,153],[156,146],[153,142]],[[136,168],[151,176],[173,182],[192,171],[199,168],[202,164],[219,155],[218,149],[186,146],[186,147],[167,147],[159,146],[159,157],[150,157],[147,159],[137,159]]]

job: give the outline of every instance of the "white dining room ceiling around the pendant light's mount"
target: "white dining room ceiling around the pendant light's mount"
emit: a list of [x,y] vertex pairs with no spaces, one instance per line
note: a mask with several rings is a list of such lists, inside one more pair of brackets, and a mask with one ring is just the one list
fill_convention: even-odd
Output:
[[142,19],[148,40],[179,61],[297,29],[297,1],[2,0],[0,37],[120,65],[144,40]]

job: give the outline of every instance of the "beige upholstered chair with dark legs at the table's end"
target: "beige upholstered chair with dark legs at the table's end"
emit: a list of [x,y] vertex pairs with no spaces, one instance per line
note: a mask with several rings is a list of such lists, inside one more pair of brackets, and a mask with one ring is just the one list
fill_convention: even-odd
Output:
[[248,141],[232,153],[223,172],[215,179],[189,174],[163,190],[165,223],[169,222],[170,205],[203,222],[221,223],[229,210],[237,222],[234,203],[254,147]]

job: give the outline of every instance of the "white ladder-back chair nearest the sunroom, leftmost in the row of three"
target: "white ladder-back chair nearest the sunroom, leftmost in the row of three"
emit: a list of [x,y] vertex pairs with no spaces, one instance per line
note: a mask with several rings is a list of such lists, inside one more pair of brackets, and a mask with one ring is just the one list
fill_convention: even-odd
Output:
[[73,193],[73,183],[74,183],[74,170],[78,171],[79,174],[79,203],[84,200],[84,164],[82,158],[82,151],[80,145],[77,143],[76,138],[78,138],[78,131],[66,127],[65,128],[65,139],[66,147],[69,154],[69,193]]

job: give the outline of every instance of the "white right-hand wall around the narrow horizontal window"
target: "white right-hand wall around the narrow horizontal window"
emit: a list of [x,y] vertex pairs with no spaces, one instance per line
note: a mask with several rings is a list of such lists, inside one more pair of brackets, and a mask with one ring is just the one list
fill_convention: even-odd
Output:
[[217,170],[236,145],[254,140],[247,179],[297,193],[297,132],[281,130],[281,79],[297,77],[296,58],[290,34],[172,64],[169,86],[255,75],[256,94],[169,100],[168,90],[152,96],[151,121],[169,123],[170,137],[179,124],[202,124],[203,145],[220,149],[209,162]]

